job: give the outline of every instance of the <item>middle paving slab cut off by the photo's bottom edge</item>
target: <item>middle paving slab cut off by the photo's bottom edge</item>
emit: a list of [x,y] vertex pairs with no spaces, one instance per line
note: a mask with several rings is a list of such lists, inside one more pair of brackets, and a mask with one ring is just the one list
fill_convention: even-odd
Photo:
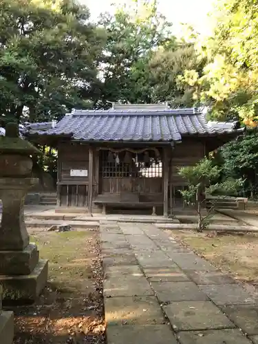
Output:
[[239,330],[207,330],[180,332],[180,344],[251,344]]

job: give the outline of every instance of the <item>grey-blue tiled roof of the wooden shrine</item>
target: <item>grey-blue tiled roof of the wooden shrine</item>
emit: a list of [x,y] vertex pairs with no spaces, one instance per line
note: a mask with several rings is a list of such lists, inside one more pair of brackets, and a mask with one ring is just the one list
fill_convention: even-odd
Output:
[[[34,127],[33,127],[34,126]],[[236,122],[208,122],[197,109],[134,108],[109,110],[74,110],[54,127],[39,123],[30,133],[70,136],[83,141],[180,141],[182,136],[211,136],[242,131]]]

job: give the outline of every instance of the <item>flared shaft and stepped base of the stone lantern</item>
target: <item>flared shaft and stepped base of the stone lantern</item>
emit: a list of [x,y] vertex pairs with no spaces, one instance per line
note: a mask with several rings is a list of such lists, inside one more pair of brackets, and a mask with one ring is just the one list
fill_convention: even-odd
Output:
[[29,244],[23,204],[35,178],[0,178],[3,213],[0,226],[0,284],[3,302],[33,302],[47,281],[47,261],[39,260],[35,244]]

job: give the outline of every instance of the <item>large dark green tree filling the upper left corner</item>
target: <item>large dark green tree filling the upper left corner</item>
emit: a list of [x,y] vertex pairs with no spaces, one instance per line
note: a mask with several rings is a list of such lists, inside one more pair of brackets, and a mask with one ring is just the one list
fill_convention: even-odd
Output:
[[73,0],[0,0],[0,111],[51,120],[87,107],[97,87],[103,33]]

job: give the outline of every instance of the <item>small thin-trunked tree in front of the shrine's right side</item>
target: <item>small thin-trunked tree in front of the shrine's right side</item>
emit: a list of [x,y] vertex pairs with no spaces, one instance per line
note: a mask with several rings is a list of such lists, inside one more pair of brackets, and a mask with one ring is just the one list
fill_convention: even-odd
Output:
[[178,174],[187,182],[187,189],[180,191],[187,204],[195,205],[198,215],[198,231],[204,230],[208,225],[208,219],[213,215],[215,204],[203,215],[202,206],[206,195],[230,195],[235,193],[242,184],[242,180],[228,178],[219,182],[222,170],[213,164],[212,160],[204,158],[195,166],[182,167]]

